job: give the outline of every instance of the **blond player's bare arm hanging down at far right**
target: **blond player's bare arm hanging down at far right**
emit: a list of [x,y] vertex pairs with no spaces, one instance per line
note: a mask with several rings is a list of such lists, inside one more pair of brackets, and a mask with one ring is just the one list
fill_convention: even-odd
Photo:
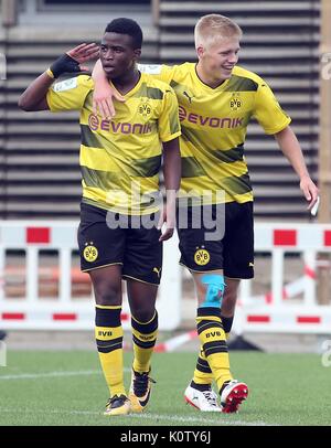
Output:
[[319,189],[310,179],[302,150],[295,132],[290,126],[287,126],[280,132],[275,134],[275,139],[282,153],[289,160],[293,170],[298,174],[300,179],[300,189],[307,201],[309,201],[308,210],[311,210],[317,203]]

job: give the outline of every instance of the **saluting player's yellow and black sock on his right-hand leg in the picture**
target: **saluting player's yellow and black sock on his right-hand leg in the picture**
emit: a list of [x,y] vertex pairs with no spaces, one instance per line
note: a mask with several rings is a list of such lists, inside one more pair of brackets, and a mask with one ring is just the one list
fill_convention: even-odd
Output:
[[158,312],[148,322],[139,322],[131,318],[134,341],[134,371],[138,373],[149,372],[150,359],[158,337]]

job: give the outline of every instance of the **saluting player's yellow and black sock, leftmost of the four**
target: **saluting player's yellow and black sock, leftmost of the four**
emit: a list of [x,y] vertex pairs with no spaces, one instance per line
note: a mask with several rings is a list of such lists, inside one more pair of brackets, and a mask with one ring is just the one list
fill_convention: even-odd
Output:
[[122,370],[121,307],[96,306],[95,338],[110,396],[126,395]]

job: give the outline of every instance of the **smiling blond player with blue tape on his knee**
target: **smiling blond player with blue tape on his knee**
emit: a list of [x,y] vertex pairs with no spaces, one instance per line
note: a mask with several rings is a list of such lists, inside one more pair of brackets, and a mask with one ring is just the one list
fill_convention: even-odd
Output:
[[[236,65],[241,38],[242,30],[235,22],[209,14],[195,26],[196,64],[145,66],[146,72],[169,83],[179,99],[182,196],[194,200],[192,205],[203,198],[202,209],[209,209],[221,226],[223,217],[225,221],[225,235],[216,241],[206,237],[209,226],[193,225],[196,205],[188,207],[186,228],[178,222],[181,263],[192,273],[197,292],[196,323],[201,340],[185,399],[205,412],[220,410],[211,388],[213,380],[224,413],[236,412],[248,394],[247,385],[235,381],[229,371],[226,334],[232,328],[239,281],[254,276],[253,191],[244,156],[250,117],[257,119],[267,135],[275,137],[289,159],[309,209],[318,198],[318,189],[289,126],[291,119],[264,79]],[[116,102],[114,108],[113,97],[122,98],[105,83],[98,63],[94,72],[95,107],[113,116],[120,105]],[[217,213],[220,204],[225,204],[225,216]]]

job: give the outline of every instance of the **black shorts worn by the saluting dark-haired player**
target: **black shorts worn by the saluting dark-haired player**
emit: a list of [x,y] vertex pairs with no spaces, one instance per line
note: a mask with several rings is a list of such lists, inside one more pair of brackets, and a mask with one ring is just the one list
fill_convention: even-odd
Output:
[[[125,225],[110,228],[109,223],[115,221]],[[159,285],[162,269],[161,231],[156,226],[145,228],[139,221],[140,216],[120,215],[82,202],[78,227],[82,270],[121,265],[124,278]],[[158,223],[157,220],[154,222]]]

